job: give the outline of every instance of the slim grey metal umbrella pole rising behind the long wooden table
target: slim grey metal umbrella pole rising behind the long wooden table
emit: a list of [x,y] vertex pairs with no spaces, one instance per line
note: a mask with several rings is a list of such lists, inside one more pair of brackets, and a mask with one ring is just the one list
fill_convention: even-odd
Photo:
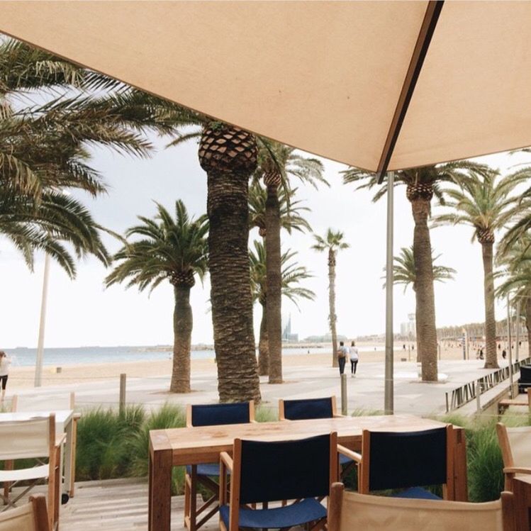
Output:
[[393,184],[394,173],[387,172],[387,251],[386,251],[386,368],[384,411],[393,415]]

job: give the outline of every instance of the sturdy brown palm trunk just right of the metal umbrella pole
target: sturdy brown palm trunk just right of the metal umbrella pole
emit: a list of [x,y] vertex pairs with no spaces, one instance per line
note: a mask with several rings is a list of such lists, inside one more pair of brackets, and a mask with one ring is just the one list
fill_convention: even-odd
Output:
[[437,328],[435,327],[435,294],[430,229],[430,201],[418,197],[411,201],[415,220],[413,258],[415,260],[415,319],[417,355],[422,365],[422,380],[437,381]]

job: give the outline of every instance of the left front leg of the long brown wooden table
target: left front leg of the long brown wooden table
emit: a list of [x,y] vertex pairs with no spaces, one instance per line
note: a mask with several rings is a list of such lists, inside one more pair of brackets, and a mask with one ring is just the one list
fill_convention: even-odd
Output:
[[172,450],[150,449],[148,531],[169,531],[172,519]]

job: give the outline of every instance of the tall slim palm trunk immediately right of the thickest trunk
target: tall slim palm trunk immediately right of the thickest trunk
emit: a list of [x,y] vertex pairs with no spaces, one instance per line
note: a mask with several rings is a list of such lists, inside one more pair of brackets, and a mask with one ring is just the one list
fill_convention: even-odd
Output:
[[282,314],[280,266],[280,206],[276,186],[267,186],[266,284],[267,341],[269,344],[269,384],[282,383]]

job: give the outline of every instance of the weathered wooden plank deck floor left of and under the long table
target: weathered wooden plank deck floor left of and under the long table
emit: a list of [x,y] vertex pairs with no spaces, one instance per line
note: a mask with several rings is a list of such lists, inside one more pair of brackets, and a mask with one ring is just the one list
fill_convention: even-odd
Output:
[[[184,530],[184,496],[172,498],[172,530]],[[212,518],[201,530],[218,529]],[[147,531],[147,483],[138,479],[86,481],[62,505],[60,531]]]

